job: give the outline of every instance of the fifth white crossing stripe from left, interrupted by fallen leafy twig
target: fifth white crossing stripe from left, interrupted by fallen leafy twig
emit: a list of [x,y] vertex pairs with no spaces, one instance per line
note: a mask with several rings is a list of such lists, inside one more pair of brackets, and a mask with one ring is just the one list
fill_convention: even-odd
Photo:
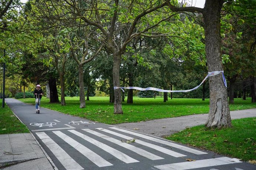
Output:
[[[120,133],[116,133],[116,132],[113,132],[113,131],[108,130],[108,129],[103,129],[103,128],[96,128],[96,129],[102,130],[103,132],[107,132],[107,133],[110,133],[110,134],[112,134],[112,135],[116,135],[116,136],[122,137],[122,138],[127,139],[127,140],[134,139],[134,138],[132,138],[132,137],[129,137],[129,136],[126,136],[126,135],[122,135],[122,134],[120,134]],[[174,151],[172,151],[172,150],[166,149],[166,148],[161,147],[161,146],[157,146],[157,145],[153,145],[153,144],[148,143],[148,142],[144,142],[144,141],[139,140],[139,139],[136,139],[135,142],[136,142],[136,143],[139,143],[139,144],[141,144],[141,145],[150,147],[150,148],[152,148],[152,149],[158,150],[159,152],[163,152],[163,153],[165,153],[165,154],[174,156],[174,157],[183,157],[183,156],[187,156],[187,155],[184,155],[184,154],[177,153],[177,152],[174,152]]]

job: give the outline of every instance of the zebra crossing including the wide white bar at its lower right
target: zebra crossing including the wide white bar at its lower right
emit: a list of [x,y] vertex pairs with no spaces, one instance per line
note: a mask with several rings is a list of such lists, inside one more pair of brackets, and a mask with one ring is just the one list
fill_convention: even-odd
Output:
[[[35,132],[61,164],[58,169],[150,169],[186,170],[240,163],[228,157],[212,158],[207,152],[178,145],[165,139],[117,128],[58,129]],[[124,135],[125,134],[125,135]],[[68,147],[67,147],[68,146]],[[204,155],[207,159],[201,159]],[[188,156],[195,161],[187,162]],[[54,162],[54,161],[53,161]],[[134,168],[137,167],[137,168]],[[145,168],[144,168],[145,169]]]

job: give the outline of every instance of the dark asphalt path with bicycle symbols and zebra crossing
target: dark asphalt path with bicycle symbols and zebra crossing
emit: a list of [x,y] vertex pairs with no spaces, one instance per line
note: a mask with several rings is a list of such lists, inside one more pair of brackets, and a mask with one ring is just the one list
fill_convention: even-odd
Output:
[[[252,170],[253,164],[160,137],[6,99],[59,170]],[[193,161],[189,161],[193,160]]]

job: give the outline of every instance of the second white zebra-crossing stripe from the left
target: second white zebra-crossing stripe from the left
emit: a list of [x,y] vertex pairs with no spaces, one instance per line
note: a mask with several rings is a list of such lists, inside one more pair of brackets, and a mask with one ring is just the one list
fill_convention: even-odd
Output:
[[106,161],[105,159],[103,159],[98,154],[94,153],[92,150],[83,146],[81,143],[76,142],[74,139],[72,139],[68,135],[65,135],[64,133],[62,133],[60,131],[53,131],[53,133],[55,133],[57,136],[59,136],[61,139],[63,139],[65,142],[67,142],[69,145],[74,147],[76,150],[78,150],[80,153],[82,153],[85,157],[87,157],[89,160],[91,160],[97,166],[104,167],[104,166],[113,165],[113,164],[109,163],[108,161]]

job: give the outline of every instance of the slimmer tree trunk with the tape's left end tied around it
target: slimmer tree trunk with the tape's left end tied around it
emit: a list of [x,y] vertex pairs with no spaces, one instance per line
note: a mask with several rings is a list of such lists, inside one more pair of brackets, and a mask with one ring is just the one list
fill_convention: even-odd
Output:
[[[120,87],[119,69],[121,64],[121,55],[113,54],[113,85],[114,87]],[[115,102],[114,102],[114,114],[123,114],[122,110],[122,93],[121,89],[114,89]]]

